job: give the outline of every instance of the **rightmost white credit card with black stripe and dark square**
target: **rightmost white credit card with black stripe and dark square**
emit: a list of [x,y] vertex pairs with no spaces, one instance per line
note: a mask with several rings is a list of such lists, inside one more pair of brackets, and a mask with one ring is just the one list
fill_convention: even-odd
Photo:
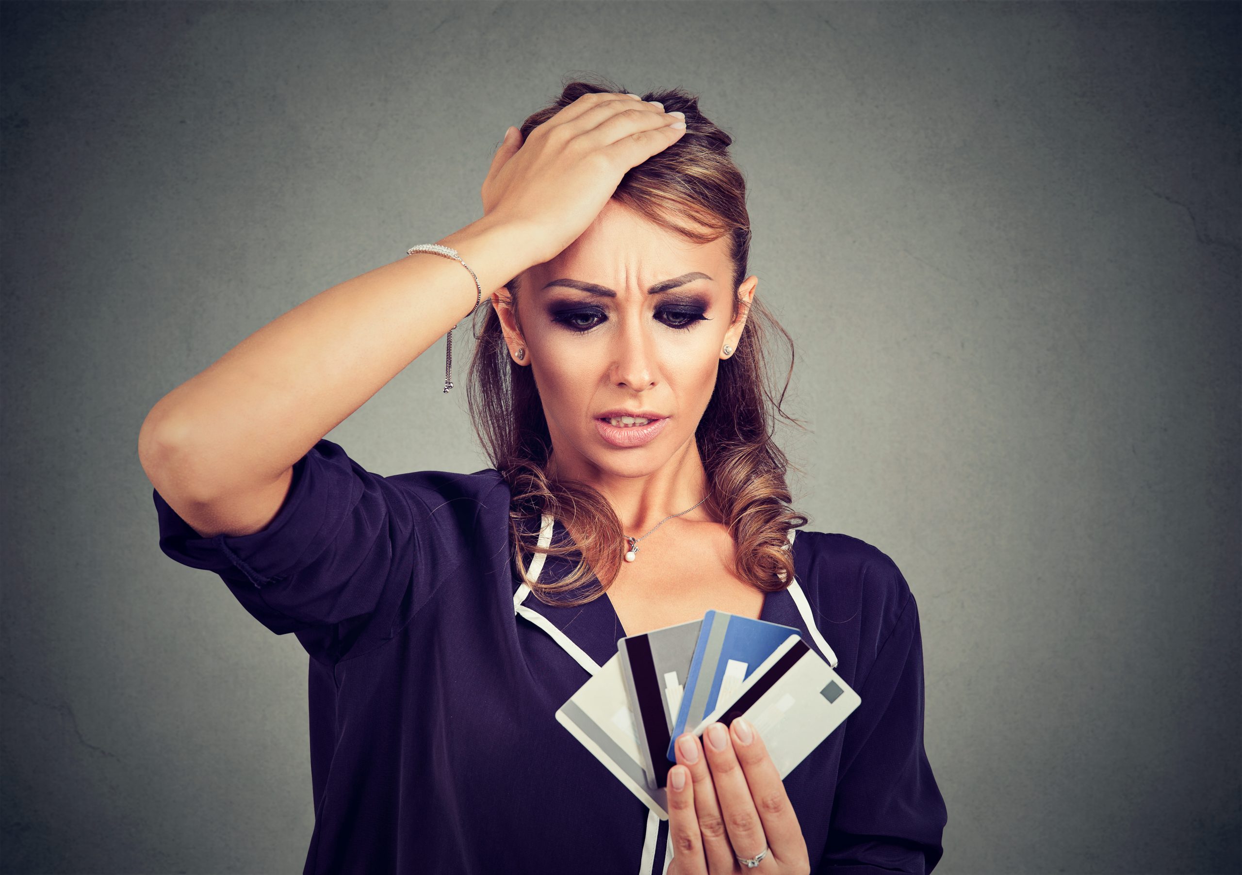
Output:
[[862,698],[801,635],[790,635],[693,732],[702,737],[717,721],[729,726],[739,715],[745,717],[784,779],[861,704]]

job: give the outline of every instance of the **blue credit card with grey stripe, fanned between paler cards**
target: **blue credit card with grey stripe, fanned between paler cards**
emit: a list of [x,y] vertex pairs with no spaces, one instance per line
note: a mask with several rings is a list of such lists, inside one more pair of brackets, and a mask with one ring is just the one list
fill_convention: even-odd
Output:
[[698,726],[719,705],[728,705],[735,699],[743,683],[791,634],[801,635],[801,632],[791,626],[723,611],[708,611],[703,616],[694,655],[686,673],[681,707],[664,751],[668,762],[677,762],[673,751],[677,736],[687,726]]

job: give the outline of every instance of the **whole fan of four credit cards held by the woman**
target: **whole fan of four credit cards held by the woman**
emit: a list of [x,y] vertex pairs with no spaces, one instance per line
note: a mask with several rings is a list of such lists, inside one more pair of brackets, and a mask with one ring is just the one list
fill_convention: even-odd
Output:
[[630,635],[556,720],[661,819],[683,732],[745,717],[780,777],[862,704],[790,626],[708,611]]

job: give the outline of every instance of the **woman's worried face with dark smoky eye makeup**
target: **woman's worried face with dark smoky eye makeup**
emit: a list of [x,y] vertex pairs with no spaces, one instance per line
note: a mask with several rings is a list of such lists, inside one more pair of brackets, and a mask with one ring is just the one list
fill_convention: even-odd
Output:
[[[534,370],[558,475],[642,477],[694,451],[723,349],[738,348],[759,282],[743,282],[730,323],[732,273],[725,237],[696,245],[609,201],[573,245],[522,276],[520,334],[493,297],[509,355]],[[652,422],[606,424],[617,411]]]

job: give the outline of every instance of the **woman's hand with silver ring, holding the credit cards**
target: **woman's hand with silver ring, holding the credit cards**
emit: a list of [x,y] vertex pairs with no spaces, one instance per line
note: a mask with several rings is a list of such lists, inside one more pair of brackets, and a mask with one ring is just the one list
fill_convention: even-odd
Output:
[[[668,770],[668,875],[809,875],[802,827],[759,734],[738,717],[730,727],[712,724],[703,740],[678,736]],[[739,863],[764,848],[759,865]]]

